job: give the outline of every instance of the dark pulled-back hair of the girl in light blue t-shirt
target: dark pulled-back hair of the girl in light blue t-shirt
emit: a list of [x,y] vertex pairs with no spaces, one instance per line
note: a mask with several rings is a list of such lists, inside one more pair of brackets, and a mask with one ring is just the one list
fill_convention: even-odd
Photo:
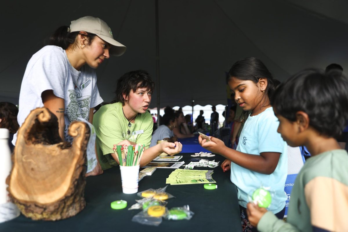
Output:
[[250,80],[258,83],[260,78],[267,79],[267,87],[264,90],[268,98],[271,98],[275,90],[275,79],[262,61],[255,57],[248,57],[234,63],[228,73],[227,81],[232,77],[238,80]]

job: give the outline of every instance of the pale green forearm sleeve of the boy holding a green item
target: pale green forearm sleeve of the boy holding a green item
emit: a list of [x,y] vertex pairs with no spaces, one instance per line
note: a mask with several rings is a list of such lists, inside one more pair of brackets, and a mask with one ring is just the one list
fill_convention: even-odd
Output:
[[260,232],[300,232],[297,227],[278,219],[271,211],[260,218],[257,229]]

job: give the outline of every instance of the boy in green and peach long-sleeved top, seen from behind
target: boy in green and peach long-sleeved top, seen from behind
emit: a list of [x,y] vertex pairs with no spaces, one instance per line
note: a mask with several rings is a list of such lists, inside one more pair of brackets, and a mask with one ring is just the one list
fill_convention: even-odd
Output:
[[288,145],[311,154],[296,177],[287,223],[254,203],[250,223],[266,231],[348,231],[348,154],[335,139],[348,118],[348,80],[333,70],[303,70],[275,91],[271,104]]

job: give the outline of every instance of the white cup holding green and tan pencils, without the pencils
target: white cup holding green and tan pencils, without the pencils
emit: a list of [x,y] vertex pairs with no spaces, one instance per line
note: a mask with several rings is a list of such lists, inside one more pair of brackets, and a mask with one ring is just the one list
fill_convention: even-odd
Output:
[[137,166],[120,166],[122,192],[132,194],[138,192],[139,182],[139,165]]

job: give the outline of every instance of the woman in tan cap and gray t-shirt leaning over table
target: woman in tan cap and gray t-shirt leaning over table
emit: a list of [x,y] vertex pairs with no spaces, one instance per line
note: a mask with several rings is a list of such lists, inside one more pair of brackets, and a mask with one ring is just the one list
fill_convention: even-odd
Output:
[[[122,55],[126,47],[113,39],[104,21],[92,16],[59,27],[48,44],[27,64],[19,93],[18,123],[22,125],[31,110],[45,106],[58,118],[60,137],[71,142],[70,123],[78,118],[92,123],[94,107],[103,102],[94,69],[110,55]],[[16,139],[17,135],[13,144]]]

